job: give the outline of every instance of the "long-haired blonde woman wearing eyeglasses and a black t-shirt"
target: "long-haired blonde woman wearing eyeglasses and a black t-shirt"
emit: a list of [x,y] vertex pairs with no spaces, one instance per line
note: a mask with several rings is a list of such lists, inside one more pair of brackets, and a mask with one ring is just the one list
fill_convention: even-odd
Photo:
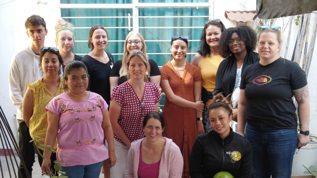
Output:
[[[115,86],[121,85],[122,83],[126,82],[127,79],[127,69],[126,69],[126,60],[127,56],[132,53],[134,50],[141,51],[145,56],[146,55],[146,44],[139,32],[131,31],[126,36],[126,41],[124,43],[123,48],[123,56],[122,60],[118,60],[114,63],[111,73],[110,73],[110,92]],[[155,83],[159,86],[161,73],[159,71],[159,67],[156,62],[152,59],[148,59],[150,64],[150,73],[146,73],[146,76],[149,79],[149,82]]]

